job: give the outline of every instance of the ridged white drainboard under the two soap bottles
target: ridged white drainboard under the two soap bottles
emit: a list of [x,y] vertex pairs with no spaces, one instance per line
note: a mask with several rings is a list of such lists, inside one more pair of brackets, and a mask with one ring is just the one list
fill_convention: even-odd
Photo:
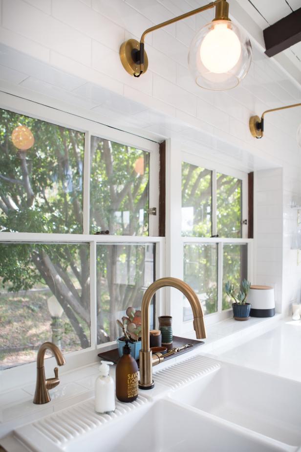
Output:
[[[146,404],[149,400],[141,395],[129,404],[116,401],[116,409],[109,414],[99,414],[94,411],[94,399],[66,408],[63,411],[55,412],[39,421],[33,422],[32,427],[37,429],[43,436],[46,436],[57,446],[63,446],[79,435],[99,427],[111,419],[116,419],[124,413],[136,407]],[[18,429],[18,433],[25,434],[28,426]]]

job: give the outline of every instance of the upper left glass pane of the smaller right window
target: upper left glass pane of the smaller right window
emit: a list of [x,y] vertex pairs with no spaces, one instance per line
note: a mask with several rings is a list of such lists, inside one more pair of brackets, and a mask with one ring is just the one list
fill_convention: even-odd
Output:
[[182,162],[182,236],[210,237],[212,171]]

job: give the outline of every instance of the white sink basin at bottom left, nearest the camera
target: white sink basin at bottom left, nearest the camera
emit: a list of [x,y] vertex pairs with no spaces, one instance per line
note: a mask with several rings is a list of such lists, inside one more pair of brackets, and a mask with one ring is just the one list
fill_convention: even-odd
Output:
[[[68,410],[70,412],[70,409]],[[92,414],[90,419],[92,419]],[[52,418],[52,419],[50,419]],[[71,422],[69,414],[65,421],[58,423],[60,435],[66,429],[66,441],[50,444],[46,436],[39,437],[38,431],[30,432],[27,428],[19,430],[18,437],[29,445],[30,437],[34,438],[34,451],[65,452],[272,452],[289,451],[276,441],[262,438],[261,435],[248,433],[236,426],[229,427],[218,419],[210,419],[206,413],[185,408],[170,400],[161,399],[155,403],[147,403],[131,410],[127,416],[117,416],[106,427],[70,434]],[[86,413],[80,418],[81,425],[87,422]],[[48,419],[48,422],[47,422]],[[63,418],[62,418],[63,419]],[[58,420],[57,420],[58,422]],[[53,416],[45,418],[44,426],[49,424],[53,429]],[[243,430],[243,431],[241,431]],[[47,431],[44,429],[43,433]],[[52,430],[53,434],[53,430]],[[49,438],[48,438],[49,439]]]

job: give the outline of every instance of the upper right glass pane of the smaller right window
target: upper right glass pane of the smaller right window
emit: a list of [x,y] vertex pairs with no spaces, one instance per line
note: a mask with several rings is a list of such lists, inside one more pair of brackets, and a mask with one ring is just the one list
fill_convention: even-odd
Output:
[[216,216],[219,237],[241,237],[240,179],[217,173]]

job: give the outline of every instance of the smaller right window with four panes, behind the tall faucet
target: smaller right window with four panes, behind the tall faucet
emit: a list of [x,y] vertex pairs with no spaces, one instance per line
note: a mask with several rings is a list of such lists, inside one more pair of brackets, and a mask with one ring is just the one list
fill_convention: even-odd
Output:
[[[238,286],[248,278],[251,241],[246,239],[242,222],[246,218],[247,175],[183,155],[183,279],[198,295],[206,316],[224,318],[231,310],[225,283],[229,280]],[[192,319],[184,298],[182,321]]]

